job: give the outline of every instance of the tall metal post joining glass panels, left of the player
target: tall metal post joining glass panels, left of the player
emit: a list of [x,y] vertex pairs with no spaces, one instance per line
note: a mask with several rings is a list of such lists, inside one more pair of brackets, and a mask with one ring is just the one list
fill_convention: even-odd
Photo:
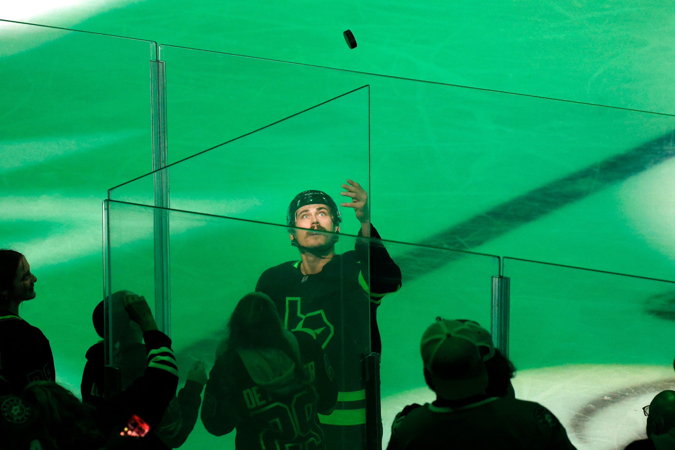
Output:
[[159,170],[169,163],[167,154],[166,64],[159,58],[150,61],[153,171],[155,185],[155,322],[160,331],[171,336],[171,298],[169,285],[169,171]]

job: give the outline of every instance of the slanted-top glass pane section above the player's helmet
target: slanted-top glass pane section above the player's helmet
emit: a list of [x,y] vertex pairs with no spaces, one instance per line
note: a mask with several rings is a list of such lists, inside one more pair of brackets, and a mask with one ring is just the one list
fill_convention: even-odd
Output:
[[[322,190],[338,204],[351,201],[340,196],[347,179],[368,191],[369,88],[326,100],[234,140],[223,137],[210,150],[193,146],[194,153],[207,151],[161,171],[169,177],[171,208],[285,224],[288,204],[302,191]],[[113,188],[109,198],[154,205],[156,176]]]

